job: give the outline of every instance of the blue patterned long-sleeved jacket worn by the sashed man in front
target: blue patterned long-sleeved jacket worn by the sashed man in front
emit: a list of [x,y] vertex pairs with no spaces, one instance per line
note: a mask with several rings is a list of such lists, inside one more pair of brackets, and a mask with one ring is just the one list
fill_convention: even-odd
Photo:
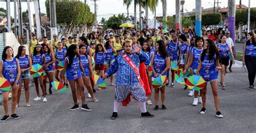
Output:
[[[131,54],[129,55],[133,63],[139,70],[139,64],[149,60],[149,56],[147,56],[144,51],[140,50],[140,55]],[[117,72],[118,70],[118,72]],[[115,59],[114,63],[110,66],[110,68],[106,71],[107,76],[111,76],[113,73],[117,72],[116,84],[119,85],[136,85],[139,84],[139,80],[134,72],[134,70],[130,67],[130,65],[124,60],[122,55],[118,55]]]

